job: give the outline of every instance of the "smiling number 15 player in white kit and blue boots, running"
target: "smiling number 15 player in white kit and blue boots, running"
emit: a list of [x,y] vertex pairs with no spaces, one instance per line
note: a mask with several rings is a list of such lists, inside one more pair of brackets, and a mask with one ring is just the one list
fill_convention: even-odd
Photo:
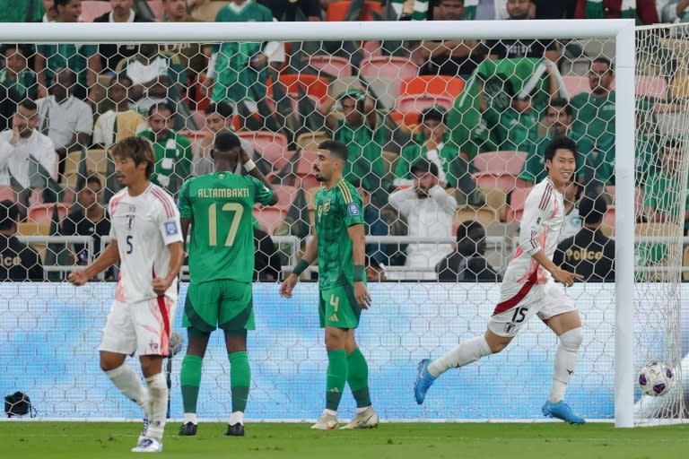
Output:
[[416,403],[423,403],[428,389],[449,368],[459,368],[487,355],[502,351],[526,324],[538,316],[560,339],[555,353],[553,388],[542,408],[545,416],[571,424],[585,421],[564,402],[567,384],[577,364],[583,341],[581,320],[574,302],[563,288],[581,279],[555,266],[553,255],[564,221],[564,187],[576,169],[576,143],[568,137],[554,139],[545,148],[548,176],[534,186],[524,205],[519,227],[519,247],[510,260],[501,283],[501,298],[481,336],[460,342],[438,359],[419,362],[414,385]]

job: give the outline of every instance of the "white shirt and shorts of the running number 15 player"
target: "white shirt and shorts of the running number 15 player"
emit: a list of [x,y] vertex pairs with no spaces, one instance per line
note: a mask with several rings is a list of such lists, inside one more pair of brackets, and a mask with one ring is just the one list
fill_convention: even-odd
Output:
[[543,250],[553,259],[563,229],[563,194],[545,178],[534,186],[524,204],[519,225],[519,244],[501,283],[500,302],[488,328],[499,336],[514,336],[535,314],[550,317],[575,310],[574,302],[531,255]]

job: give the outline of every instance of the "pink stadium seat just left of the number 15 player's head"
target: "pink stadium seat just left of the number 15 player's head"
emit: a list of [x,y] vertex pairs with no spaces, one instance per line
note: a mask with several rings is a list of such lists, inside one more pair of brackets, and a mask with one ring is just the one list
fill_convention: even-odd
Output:
[[526,182],[518,178],[526,158],[526,152],[484,152],[476,155],[474,166],[479,170],[474,174],[476,185],[497,186],[505,193],[526,186]]

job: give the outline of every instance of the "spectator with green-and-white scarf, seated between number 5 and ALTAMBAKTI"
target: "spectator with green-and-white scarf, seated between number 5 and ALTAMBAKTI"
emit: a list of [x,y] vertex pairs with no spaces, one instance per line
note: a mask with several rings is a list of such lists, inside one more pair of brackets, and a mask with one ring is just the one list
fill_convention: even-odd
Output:
[[149,129],[137,134],[153,143],[155,168],[151,181],[167,189],[172,195],[191,175],[191,142],[172,130],[174,112],[167,102],[159,102],[148,110]]

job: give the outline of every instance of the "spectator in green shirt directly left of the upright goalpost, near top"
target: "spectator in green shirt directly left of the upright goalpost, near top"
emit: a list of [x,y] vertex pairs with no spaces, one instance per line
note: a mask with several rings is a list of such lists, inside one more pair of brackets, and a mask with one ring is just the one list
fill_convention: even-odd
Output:
[[615,134],[614,82],[615,69],[610,59],[597,57],[589,70],[591,92],[580,92],[571,99],[572,128],[587,135],[597,147],[607,136]]

